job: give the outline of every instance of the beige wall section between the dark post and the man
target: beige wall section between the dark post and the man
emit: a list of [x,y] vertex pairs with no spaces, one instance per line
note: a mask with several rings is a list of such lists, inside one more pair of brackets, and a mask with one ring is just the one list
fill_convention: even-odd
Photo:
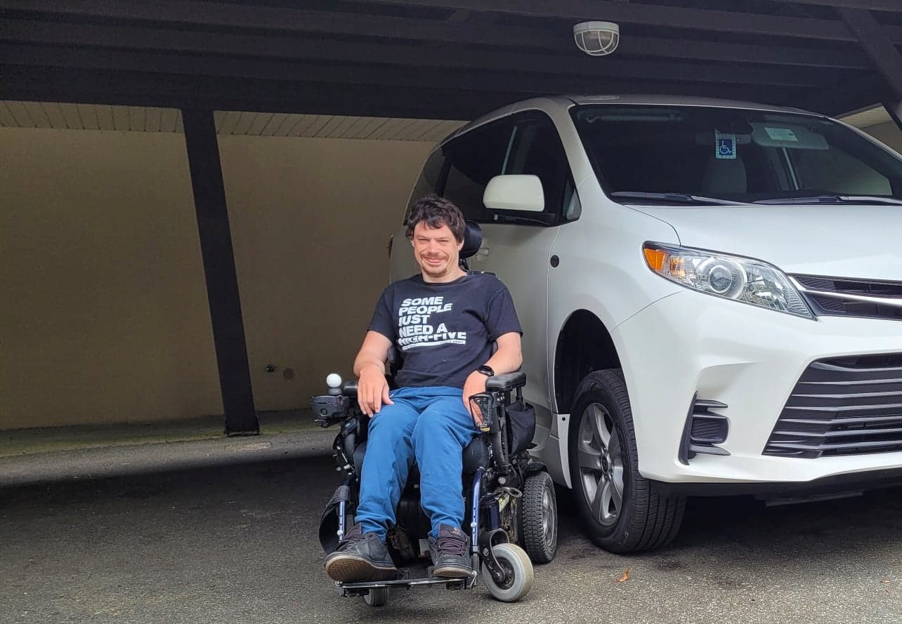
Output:
[[350,374],[388,280],[388,238],[432,147],[220,137],[258,409],[306,407],[328,372]]

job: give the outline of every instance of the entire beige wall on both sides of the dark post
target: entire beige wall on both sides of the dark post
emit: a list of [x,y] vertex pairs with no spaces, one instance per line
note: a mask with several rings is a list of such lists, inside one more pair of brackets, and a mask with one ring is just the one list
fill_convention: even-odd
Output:
[[[220,142],[254,399],[302,407],[350,368],[431,143]],[[180,134],[0,128],[0,193],[0,429],[222,413]]]

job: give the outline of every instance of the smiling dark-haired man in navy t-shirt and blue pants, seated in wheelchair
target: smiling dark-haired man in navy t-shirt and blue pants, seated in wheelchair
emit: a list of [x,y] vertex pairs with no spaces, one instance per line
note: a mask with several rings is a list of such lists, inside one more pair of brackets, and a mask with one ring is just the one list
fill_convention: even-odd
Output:
[[[460,267],[465,222],[451,202],[430,195],[413,206],[407,236],[419,274],[382,291],[354,360],[357,400],[373,417],[354,527],[326,558],[336,581],[390,578],[397,570],[385,538],[416,460],[420,504],[432,525],[433,574],[471,574],[470,539],[461,530],[462,452],[478,434],[467,398],[494,374],[520,368],[520,322],[508,289]],[[392,344],[402,359],[389,390]],[[492,353],[492,344],[497,351]]]

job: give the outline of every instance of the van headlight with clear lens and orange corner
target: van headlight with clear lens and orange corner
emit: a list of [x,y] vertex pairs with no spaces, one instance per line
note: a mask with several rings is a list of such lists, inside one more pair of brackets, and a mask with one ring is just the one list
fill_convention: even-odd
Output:
[[815,317],[786,274],[766,262],[658,243],[645,243],[643,251],[649,269],[687,289],[797,317]]

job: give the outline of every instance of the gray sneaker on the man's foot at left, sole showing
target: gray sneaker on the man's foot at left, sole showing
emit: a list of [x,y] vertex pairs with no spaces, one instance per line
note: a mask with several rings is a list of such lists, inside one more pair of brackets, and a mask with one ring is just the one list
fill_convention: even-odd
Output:
[[387,581],[398,574],[389,549],[375,533],[355,524],[326,557],[326,574],[333,581],[359,583]]

